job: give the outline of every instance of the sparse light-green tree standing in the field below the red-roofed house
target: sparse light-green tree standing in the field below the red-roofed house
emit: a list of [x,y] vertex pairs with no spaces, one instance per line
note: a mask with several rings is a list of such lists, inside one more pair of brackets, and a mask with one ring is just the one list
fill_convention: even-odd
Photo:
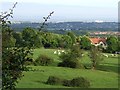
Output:
[[96,69],[97,65],[103,60],[103,56],[98,47],[92,46],[90,50],[90,59],[92,62],[92,69]]

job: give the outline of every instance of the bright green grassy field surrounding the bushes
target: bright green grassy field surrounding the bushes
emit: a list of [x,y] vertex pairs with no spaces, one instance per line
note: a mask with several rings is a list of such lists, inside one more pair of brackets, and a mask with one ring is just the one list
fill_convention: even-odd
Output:
[[[45,84],[49,76],[58,76],[64,79],[75,77],[85,77],[91,83],[91,88],[118,88],[118,58],[104,58],[97,70],[91,69],[72,69],[56,67],[60,62],[58,55],[53,54],[55,49],[35,49],[34,60],[40,55],[45,54],[54,58],[54,64],[50,66],[30,66],[34,71],[24,72],[24,77],[19,80],[17,88],[70,88],[60,85]],[[87,55],[83,56],[81,63],[90,67],[90,59]]]

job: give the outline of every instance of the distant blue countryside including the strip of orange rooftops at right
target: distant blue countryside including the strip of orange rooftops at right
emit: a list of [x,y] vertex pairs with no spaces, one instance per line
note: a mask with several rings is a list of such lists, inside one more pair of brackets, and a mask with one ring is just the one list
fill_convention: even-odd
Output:
[[[11,27],[15,31],[22,31],[25,27],[39,29],[40,26],[41,23],[38,22],[19,21],[12,22],[11,24]],[[58,34],[65,34],[68,31],[72,31],[76,35],[120,35],[117,22],[49,22],[44,27],[44,30]]]

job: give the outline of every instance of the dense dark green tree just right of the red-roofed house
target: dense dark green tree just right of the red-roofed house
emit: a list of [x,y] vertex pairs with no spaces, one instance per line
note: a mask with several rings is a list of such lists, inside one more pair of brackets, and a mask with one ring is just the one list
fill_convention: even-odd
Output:
[[118,38],[115,36],[110,36],[107,38],[107,52],[110,53],[115,53],[116,51],[118,51]]

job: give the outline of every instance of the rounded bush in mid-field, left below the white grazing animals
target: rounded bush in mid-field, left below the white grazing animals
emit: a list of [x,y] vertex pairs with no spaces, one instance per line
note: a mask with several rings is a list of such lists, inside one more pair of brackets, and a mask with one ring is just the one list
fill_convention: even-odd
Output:
[[40,55],[34,62],[34,65],[42,65],[42,66],[48,66],[49,64],[51,64],[53,62],[53,59],[51,59],[50,57],[46,56],[46,55]]

